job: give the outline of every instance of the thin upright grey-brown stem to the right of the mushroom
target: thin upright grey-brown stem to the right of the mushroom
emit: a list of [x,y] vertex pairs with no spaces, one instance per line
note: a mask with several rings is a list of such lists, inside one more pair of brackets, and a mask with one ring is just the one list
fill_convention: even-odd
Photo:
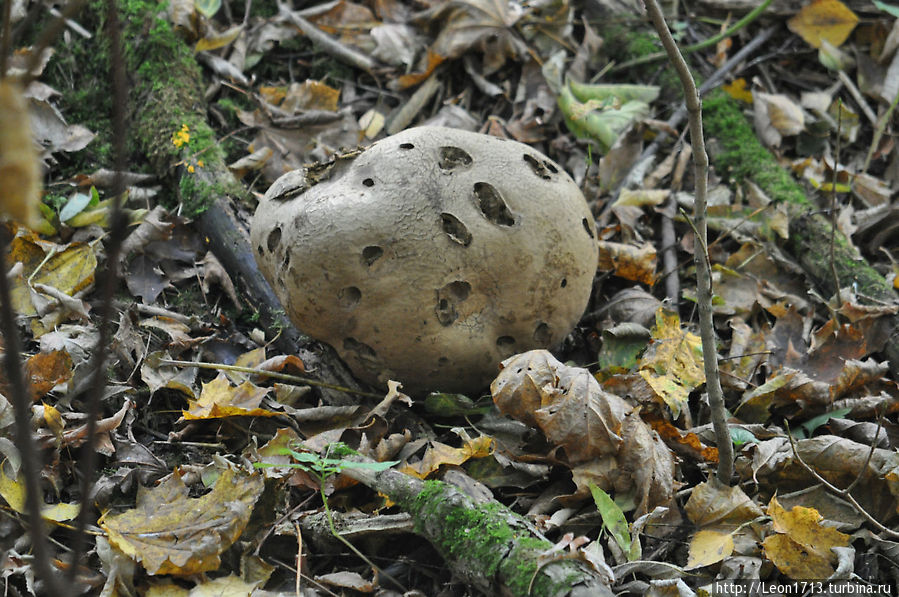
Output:
[[718,480],[729,486],[734,473],[734,445],[727,428],[727,414],[724,408],[724,392],[721,390],[721,376],[718,373],[718,350],[715,346],[715,328],[712,321],[712,269],[709,265],[708,232],[706,226],[706,196],[708,192],[709,156],[705,150],[702,133],[702,102],[696,83],[690,74],[687,62],[671,37],[665,17],[656,0],[646,0],[646,12],[668,57],[677,71],[684,87],[684,99],[690,122],[690,143],[693,146],[693,166],[695,177],[695,199],[693,203],[693,223],[698,232],[699,250],[694,251],[696,259],[696,300],[699,306],[699,329],[702,336],[702,354],[705,368],[706,390],[709,394],[712,427],[718,443]]

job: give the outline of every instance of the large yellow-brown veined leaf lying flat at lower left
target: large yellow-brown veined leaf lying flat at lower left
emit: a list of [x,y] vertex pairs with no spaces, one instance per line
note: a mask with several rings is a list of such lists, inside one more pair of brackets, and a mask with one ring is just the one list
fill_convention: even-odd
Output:
[[176,471],[158,486],[138,490],[135,508],[106,512],[99,524],[112,545],[150,574],[208,572],[218,569],[219,555],[240,537],[263,487],[262,475],[228,468],[212,491],[190,498]]

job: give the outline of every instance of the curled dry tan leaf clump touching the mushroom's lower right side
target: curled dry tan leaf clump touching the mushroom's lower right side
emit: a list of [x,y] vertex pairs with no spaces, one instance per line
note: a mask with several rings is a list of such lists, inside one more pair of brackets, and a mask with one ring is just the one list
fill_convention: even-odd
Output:
[[502,363],[490,386],[504,414],[536,426],[563,448],[578,485],[632,494],[638,515],[668,504],[674,494],[674,457],[638,411],[605,392],[586,369],[532,350]]

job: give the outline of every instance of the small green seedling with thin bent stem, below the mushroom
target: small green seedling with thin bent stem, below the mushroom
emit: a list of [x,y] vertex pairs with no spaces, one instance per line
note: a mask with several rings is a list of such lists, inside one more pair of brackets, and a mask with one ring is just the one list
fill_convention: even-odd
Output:
[[328,528],[331,530],[331,534],[334,535],[334,538],[343,543],[349,548],[354,554],[359,556],[366,564],[374,568],[378,571],[378,574],[382,574],[387,578],[390,578],[394,583],[398,586],[402,586],[396,579],[390,577],[389,574],[383,572],[378,566],[375,565],[368,557],[363,554],[361,551],[356,549],[356,546],[350,543],[347,539],[343,538],[340,533],[337,532],[337,527],[334,526],[334,517],[331,515],[331,508],[328,507],[328,496],[325,495],[325,481],[334,475],[339,475],[347,469],[368,469],[370,471],[383,471],[387,470],[395,464],[398,464],[399,461],[388,461],[388,462],[357,462],[354,460],[345,460],[347,456],[358,456],[359,453],[350,448],[343,442],[334,442],[332,444],[328,444],[325,447],[324,454],[319,455],[314,452],[301,452],[297,448],[299,445],[297,442],[292,442],[290,445],[280,448],[277,453],[283,456],[290,456],[293,459],[293,462],[289,464],[281,464],[281,463],[271,463],[271,462],[254,462],[253,466],[255,468],[271,468],[271,467],[282,467],[287,466],[290,468],[298,468],[306,473],[312,475],[312,477],[318,481],[318,489],[321,494],[322,504],[325,508],[325,517],[328,519]]

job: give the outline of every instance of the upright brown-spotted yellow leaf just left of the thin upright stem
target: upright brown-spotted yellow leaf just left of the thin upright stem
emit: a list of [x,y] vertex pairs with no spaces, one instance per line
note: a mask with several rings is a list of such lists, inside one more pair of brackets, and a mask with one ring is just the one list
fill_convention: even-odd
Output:
[[639,367],[640,376],[677,417],[686,406],[690,391],[705,383],[702,340],[681,329],[676,313],[660,307],[652,328],[652,342]]

